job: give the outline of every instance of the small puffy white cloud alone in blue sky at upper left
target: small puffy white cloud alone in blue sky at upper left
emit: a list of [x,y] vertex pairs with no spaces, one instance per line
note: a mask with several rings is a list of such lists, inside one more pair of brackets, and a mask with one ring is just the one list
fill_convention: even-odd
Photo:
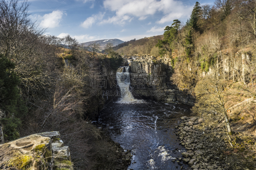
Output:
[[52,13],[49,14],[44,14],[44,16],[34,15],[34,18],[36,18],[37,21],[40,22],[40,26],[44,28],[55,28],[60,26],[63,14],[64,13],[62,11],[57,10],[52,11]]

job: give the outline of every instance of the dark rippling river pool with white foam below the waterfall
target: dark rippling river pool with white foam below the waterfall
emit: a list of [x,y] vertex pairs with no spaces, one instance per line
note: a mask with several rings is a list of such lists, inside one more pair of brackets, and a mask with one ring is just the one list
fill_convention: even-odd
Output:
[[[185,151],[179,145],[174,127],[181,116],[188,116],[190,107],[149,100],[109,103],[95,122],[108,128],[112,140],[133,153],[128,169],[180,169],[175,158]],[[182,165],[188,167],[187,165]]]

